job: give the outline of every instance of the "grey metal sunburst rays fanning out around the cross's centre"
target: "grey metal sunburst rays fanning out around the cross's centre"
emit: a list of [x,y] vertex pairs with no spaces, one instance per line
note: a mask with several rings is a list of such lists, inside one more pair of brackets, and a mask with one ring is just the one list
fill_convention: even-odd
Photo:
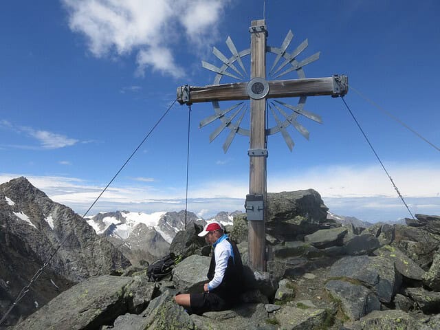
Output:
[[[269,78],[276,80],[276,78],[280,78],[291,72],[296,72],[296,75],[300,79],[305,78],[303,67],[318,60],[320,52],[305,58],[303,61],[297,60],[297,57],[302,54],[302,52],[308,46],[307,39],[300,43],[300,45],[298,45],[298,47],[296,47],[296,49],[294,49],[292,52],[287,52],[287,48],[293,39],[294,34],[289,30],[283,43],[281,44],[281,47],[266,47],[266,53],[276,54],[272,67],[267,74]],[[212,53],[221,61],[221,67],[217,67],[216,65],[212,65],[206,61],[201,62],[202,67],[216,73],[213,85],[219,85],[223,76],[228,76],[230,78],[242,81],[250,80],[250,76],[242,61],[243,57],[250,55],[250,48],[238,52],[230,36],[228,36],[228,39],[226,39],[226,45],[231,53],[229,58],[216,47],[213,47],[212,50]],[[296,105],[274,99],[270,102],[267,102],[267,111],[272,113],[276,126],[267,129],[266,134],[272,135],[281,132],[281,135],[283,135],[283,138],[290,151],[292,151],[295,144],[287,131],[288,126],[293,126],[296,131],[309,140],[309,131],[307,131],[307,129],[297,121],[299,115],[303,115],[304,117],[314,120],[315,122],[322,123],[319,115],[304,109],[306,100],[306,96],[301,96],[298,100],[298,104]],[[228,109],[221,109],[218,101],[212,101],[212,106],[215,111],[214,115],[210,115],[208,118],[201,120],[199,128],[206,126],[217,119],[221,121],[220,126],[218,126],[217,129],[210,134],[210,142],[212,142],[224,129],[230,129],[230,133],[228,134],[228,137],[226,137],[226,140],[223,144],[223,151],[226,153],[237,133],[241,135],[249,135],[249,129],[243,129],[240,126],[245,113],[249,109],[248,102],[239,102],[232,105],[232,107],[228,107]]]

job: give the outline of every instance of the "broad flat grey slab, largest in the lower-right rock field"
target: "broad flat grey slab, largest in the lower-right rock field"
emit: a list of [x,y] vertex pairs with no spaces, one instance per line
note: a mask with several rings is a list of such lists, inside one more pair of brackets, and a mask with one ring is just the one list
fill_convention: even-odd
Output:
[[384,303],[390,303],[401,284],[393,262],[380,256],[347,256],[331,266],[331,278],[349,278],[374,288]]

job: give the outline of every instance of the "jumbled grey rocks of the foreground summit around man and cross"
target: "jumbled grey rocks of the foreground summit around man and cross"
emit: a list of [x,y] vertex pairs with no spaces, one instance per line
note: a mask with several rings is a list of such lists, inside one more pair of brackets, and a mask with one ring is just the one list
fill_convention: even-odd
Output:
[[137,266],[91,276],[12,329],[440,329],[440,217],[365,229],[327,219],[315,190],[268,200],[266,272],[248,265],[245,215],[228,228],[245,265],[232,309],[199,316],[174,303],[207,281],[211,250],[196,221],[175,235],[178,263],[161,281]]

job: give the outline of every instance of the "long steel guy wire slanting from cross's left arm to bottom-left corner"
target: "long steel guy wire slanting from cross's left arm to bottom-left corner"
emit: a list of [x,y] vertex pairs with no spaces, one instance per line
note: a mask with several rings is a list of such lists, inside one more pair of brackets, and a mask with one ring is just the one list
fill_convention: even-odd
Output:
[[[153,133],[153,131],[155,130],[155,128],[157,127],[157,125],[159,124],[159,122],[162,121],[162,119],[164,119],[165,115],[170,111],[170,109],[173,107],[173,105],[175,104],[175,102],[177,101],[177,99],[174,100],[173,103],[170,104],[170,106],[168,107],[168,109],[166,109],[165,113],[162,115],[161,118],[159,118],[159,120],[157,120],[157,122],[154,124],[153,128],[146,134],[146,136],[144,137],[144,140],[142,140],[142,142],[140,142],[140,144],[137,146],[137,148],[135,148],[135,150],[133,151],[133,153],[131,153],[130,157],[128,159],[126,159],[126,161],[124,162],[124,164],[121,166],[121,168],[118,170],[118,172],[113,176],[113,178],[111,178],[111,180],[109,181],[109,183],[107,184],[107,186],[105,186],[105,188],[102,190],[102,192],[100,192],[100,195],[98,195],[98,197],[96,197],[95,201],[93,203],[91,203],[91,206],[89,207],[89,209],[81,216],[83,219],[86,216],[86,214],[91,210],[91,208],[94,207],[94,205],[96,204],[96,202],[98,201],[98,199],[100,199],[100,197],[102,196],[102,194],[107,190],[107,188],[109,188],[110,184],[114,181],[114,179],[119,175],[119,173],[122,171],[122,169],[126,166],[126,164],[129,163],[129,161],[131,160],[131,158],[133,158],[133,156],[135,155],[135,153],[139,150],[139,148],[142,146],[142,144],[144,144],[144,142],[146,141],[146,139],[151,135],[151,133]],[[14,300],[14,303],[12,303],[12,305],[10,306],[10,308],[8,309],[8,311],[6,311],[5,315],[3,315],[3,317],[0,320],[0,325],[6,320],[6,318],[8,317],[8,315],[10,314],[10,312],[12,311],[12,309],[14,308],[14,306],[17,305],[17,303],[19,303],[19,301],[25,296],[25,294],[27,294],[29,292],[30,286],[40,277],[40,275],[43,273],[43,270],[45,269],[45,267],[47,267],[47,265],[49,265],[49,262],[54,258],[56,252],[58,252],[58,250],[60,250],[60,248],[63,246],[63,244],[67,241],[67,239],[69,238],[70,235],[73,234],[74,230],[76,229],[76,226],[79,224],[79,222],[76,223],[76,225],[74,225],[74,227],[72,228],[72,230],[69,232],[69,234],[67,234],[67,236],[65,236],[65,238],[63,239],[63,241],[61,241],[61,243],[58,245],[58,248],[55,249],[55,251],[50,255],[50,257],[45,261],[45,263],[43,263],[43,266],[36,271],[36,273],[34,274],[34,276],[32,277],[31,281],[29,282],[28,285],[26,285],[25,287],[23,287],[23,289],[21,289],[21,292],[18,294],[17,298]]]

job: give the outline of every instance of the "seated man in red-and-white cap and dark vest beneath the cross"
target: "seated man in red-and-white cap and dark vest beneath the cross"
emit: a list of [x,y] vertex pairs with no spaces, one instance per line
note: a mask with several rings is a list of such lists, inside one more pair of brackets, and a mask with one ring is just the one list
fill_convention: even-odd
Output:
[[217,221],[205,225],[199,236],[204,236],[206,243],[214,246],[208,270],[210,281],[203,285],[203,293],[178,294],[175,301],[194,314],[228,309],[243,292],[240,252]]

